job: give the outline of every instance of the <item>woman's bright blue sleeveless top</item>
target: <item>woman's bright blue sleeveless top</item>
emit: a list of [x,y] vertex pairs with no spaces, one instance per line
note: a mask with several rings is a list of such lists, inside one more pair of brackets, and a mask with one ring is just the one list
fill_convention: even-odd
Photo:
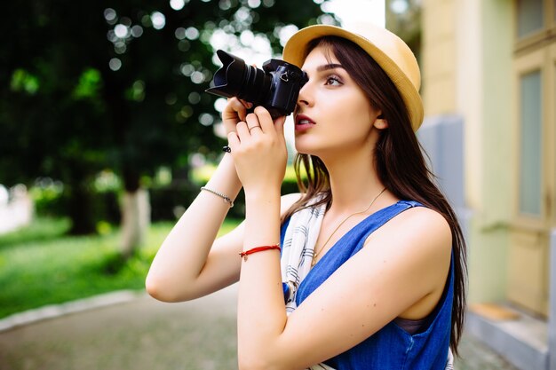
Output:
[[[369,234],[406,209],[419,207],[417,201],[398,201],[368,216],[338,240],[307,274],[298,287],[296,302],[302,304],[314,289],[361,250]],[[282,226],[282,240],[289,220]],[[454,295],[454,265],[444,293],[417,334],[409,335],[393,321],[350,350],[324,363],[337,370],[444,370],[448,358],[451,312]]]

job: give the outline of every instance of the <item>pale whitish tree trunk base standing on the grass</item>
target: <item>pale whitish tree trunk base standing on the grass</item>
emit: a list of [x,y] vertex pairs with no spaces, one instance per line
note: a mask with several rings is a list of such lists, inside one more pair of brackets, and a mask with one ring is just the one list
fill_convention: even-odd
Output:
[[122,256],[129,258],[145,241],[150,225],[148,192],[143,188],[125,191],[122,199]]

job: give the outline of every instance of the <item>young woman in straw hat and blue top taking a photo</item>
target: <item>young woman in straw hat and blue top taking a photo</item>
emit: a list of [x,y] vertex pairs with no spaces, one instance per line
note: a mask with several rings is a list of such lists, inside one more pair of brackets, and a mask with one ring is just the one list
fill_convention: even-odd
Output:
[[[230,98],[231,150],[163,242],[147,291],[176,302],[239,280],[241,369],[449,367],[465,242],[415,135],[415,57],[366,25],[304,28],[283,59],[308,75],[294,114],[301,193],[280,193],[284,118]],[[216,239],[241,188],[245,220]]]

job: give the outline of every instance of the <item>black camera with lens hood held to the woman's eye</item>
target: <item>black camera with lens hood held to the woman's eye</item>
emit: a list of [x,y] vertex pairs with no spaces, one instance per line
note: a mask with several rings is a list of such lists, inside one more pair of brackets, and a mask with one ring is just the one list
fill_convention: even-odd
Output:
[[246,66],[243,59],[226,51],[218,50],[217,55],[222,67],[214,75],[207,92],[264,106],[273,119],[293,112],[299,90],[308,80],[305,72],[280,59],[267,60],[260,70]]

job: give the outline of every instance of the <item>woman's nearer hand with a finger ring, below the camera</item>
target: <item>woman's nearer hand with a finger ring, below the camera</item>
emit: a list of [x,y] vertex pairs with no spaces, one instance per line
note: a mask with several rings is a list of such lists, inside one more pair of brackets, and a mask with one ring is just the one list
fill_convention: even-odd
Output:
[[228,133],[235,169],[246,193],[280,190],[288,159],[285,120],[280,117],[273,122],[266,108],[258,106]]

